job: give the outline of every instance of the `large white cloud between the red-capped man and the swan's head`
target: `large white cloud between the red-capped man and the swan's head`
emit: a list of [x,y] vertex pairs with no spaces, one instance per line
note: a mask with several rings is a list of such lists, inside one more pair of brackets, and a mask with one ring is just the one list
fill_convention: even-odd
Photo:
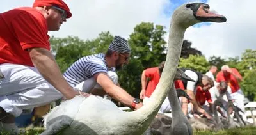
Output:
[[[61,31],[52,35],[75,35],[79,38],[95,38],[101,31],[128,38],[134,26],[143,22],[156,22],[167,0],[90,0],[68,1],[74,14]],[[65,31],[65,32],[63,32]]]

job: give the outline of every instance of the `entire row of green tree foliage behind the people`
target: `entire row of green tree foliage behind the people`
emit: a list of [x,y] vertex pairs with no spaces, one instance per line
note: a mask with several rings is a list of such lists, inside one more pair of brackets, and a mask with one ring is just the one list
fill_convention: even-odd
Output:
[[[166,59],[166,42],[164,36],[166,31],[160,25],[142,22],[135,26],[134,31],[129,35],[128,42],[131,45],[131,58],[129,64],[123,70],[118,71],[118,82],[134,97],[138,97],[141,90],[141,73],[146,68],[156,67]],[[51,37],[51,51],[56,56],[56,61],[65,72],[67,68],[77,59],[90,54],[105,53],[113,35],[109,31],[99,33],[99,36],[92,40],[81,40],[76,36],[66,38]],[[184,40],[182,44],[179,67],[192,68],[205,73],[209,65],[216,65],[221,69],[222,65],[229,65],[237,68],[244,80],[241,88],[246,96],[255,99],[256,89],[256,50],[246,50],[241,59],[221,58],[211,56],[207,61],[201,51],[192,47],[192,42]],[[256,100],[256,99],[255,99]]]

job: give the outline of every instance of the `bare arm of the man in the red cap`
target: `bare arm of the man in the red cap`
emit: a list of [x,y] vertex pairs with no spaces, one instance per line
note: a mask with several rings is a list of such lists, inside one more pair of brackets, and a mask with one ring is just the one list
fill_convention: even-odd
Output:
[[78,94],[61,74],[60,68],[50,51],[44,48],[31,48],[28,51],[33,65],[54,88],[60,91],[67,99],[72,99]]

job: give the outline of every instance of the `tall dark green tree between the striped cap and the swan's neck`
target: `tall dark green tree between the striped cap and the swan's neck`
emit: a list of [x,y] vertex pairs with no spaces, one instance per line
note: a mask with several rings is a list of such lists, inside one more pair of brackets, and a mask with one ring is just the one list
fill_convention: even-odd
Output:
[[121,86],[135,97],[141,90],[141,73],[145,68],[156,67],[166,58],[163,26],[142,22],[130,35],[131,59],[124,70],[118,72]]

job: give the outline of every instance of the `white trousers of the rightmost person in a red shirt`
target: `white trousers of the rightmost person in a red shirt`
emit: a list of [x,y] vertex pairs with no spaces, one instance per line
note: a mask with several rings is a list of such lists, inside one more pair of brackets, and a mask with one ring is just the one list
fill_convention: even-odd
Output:
[[237,107],[239,107],[243,112],[244,109],[244,93],[241,89],[231,94],[231,98],[235,100]]

